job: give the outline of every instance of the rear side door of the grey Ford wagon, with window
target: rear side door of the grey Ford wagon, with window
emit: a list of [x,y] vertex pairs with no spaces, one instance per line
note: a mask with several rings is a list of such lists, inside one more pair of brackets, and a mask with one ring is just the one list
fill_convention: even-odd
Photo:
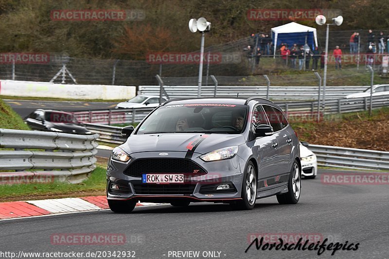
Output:
[[274,112],[277,115],[277,119],[280,122],[281,129],[276,135],[278,140],[278,154],[280,155],[280,169],[281,173],[288,173],[291,167],[291,154],[292,154],[292,136],[287,130],[288,121],[286,120],[283,112],[272,106]]

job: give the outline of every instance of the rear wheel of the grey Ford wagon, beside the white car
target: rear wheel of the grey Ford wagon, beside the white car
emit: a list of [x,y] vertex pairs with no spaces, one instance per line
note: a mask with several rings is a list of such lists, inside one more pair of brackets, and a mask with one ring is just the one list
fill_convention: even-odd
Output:
[[288,192],[277,195],[279,204],[297,204],[301,194],[301,170],[297,160],[293,162],[289,175]]

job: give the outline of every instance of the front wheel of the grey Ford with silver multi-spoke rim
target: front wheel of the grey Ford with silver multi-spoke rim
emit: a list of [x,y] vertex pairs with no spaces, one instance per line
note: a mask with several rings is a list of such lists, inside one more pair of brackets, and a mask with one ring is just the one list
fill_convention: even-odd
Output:
[[254,164],[251,161],[248,162],[243,175],[241,197],[242,200],[230,204],[232,208],[248,210],[255,207],[257,198],[257,175],[255,174]]

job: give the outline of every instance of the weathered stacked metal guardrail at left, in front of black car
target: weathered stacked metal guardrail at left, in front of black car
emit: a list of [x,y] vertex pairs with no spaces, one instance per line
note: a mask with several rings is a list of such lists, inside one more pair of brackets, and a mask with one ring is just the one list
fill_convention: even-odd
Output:
[[0,129],[0,184],[79,183],[96,168],[97,137]]

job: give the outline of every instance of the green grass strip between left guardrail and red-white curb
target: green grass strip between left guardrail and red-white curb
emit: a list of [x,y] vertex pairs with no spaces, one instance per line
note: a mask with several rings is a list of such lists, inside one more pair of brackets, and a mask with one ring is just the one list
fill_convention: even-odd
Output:
[[106,190],[106,169],[98,166],[89,178],[79,184],[54,182],[51,184],[33,183],[0,185],[0,198],[16,196],[59,195],[71,194],[78,191],[104,191]]

